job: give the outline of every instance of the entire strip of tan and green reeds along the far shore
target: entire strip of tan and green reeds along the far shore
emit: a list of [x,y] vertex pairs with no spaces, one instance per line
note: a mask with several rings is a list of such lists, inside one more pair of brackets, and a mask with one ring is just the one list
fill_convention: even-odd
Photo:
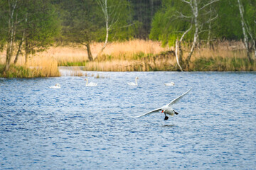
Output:
[[[92,55],[96,56],[101,47],[102,43],[93,43]],[[188,51],[183,49],[183,55]],[[161,47],[160,42],[150,40],[130,40],[110,43],[92,62],[88,62],[86,49],[80,45],[50,47],[31,56],[27,64],[21,56],[18,64],[11,65],[7,73],[4,73],[2,57],[0,77],[59,77],[58,66],[82,66],[85,71],[100,72],[179,71],[174,47]],[[216,42],[213,48],[198,48],[184,71],[252,72],[256,71],[256,61],[249,62],[242,42]],[[74,72],[74,76],[80,75],[79,70]]]

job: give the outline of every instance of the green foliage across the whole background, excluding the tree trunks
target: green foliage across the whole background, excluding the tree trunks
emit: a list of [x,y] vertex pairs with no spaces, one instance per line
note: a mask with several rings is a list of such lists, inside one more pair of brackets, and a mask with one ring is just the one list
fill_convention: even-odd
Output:
[[[8,39],[8,2],[14,1],[0,1],[1,48]],[[210,0],[197,1],[199,8],[210,2]],[[97,1],[21,0],[17,3],[14,13],[14,15],[18,13],[16,41],[21,40],[24,29],[26,29],[27,37],[31,39],[32,46],[35,42],[39,43],[40,47],[47,46],[52,40],[50,38],[53,37],[55,40],[82,43],[105,40],[104,15]],[[181,37],[184,31],[193,24],[191,7],[181,0],[108,0],[107,3],[109,8],[118,6],[117,11],[111,11],[112,17],[116,17],[117,22],[114,22],[110,30],[110,41],[151,38],[161,40],[164,44],[174,45],[176,38]],[[245,22],[250,26],[255,38],[256,1],[242,0],[242,4]],[[215,19],[209,22],[211,18]],[[215,1],[203,8],[198,13],[198,23],[200,40],[207,40],[209,31],[211,40],[243,38],[236,0]],[[211,25],[210,28],[209,25]],[[62,27],[61,31],[60,27]],[[187,41],[192,40],[193,29],[194,27],[186,35]]]

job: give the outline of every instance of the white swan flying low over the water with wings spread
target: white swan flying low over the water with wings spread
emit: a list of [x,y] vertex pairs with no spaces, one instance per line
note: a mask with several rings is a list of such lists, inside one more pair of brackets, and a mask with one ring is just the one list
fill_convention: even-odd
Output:
[[[192,88],[191,88],[192,89]],[[189,89],[188,91],[186,91],[184,94],[182,94],[181,96],[178,96],[177,98],[175,98],[173,101],[171,101],[171,103],[165,105],[165,106],[162,106],[161,108],[156,108],[155,110],[153,111],[149,111],[148,113],[144,113],[143,115],[148,115],[148,114],[151,114],[151,113],[156,113],[156,112],[159,112],[161,111],[161,113],[164,113],[165,117],[164,117],[164,120],[168,120],[168,116],[166,116],[166,114],[168,115],[178,115],[178,113],[176,111],[174,111],[173,108],[171,108],[171,106],[175,103],[177,103],[183,96],[185,96],[186,94],[188,94],[189,91],[191,91],[191,89]],[[132,118],[139,118],[143,115],[138,115],[138,116],[134,116]]]

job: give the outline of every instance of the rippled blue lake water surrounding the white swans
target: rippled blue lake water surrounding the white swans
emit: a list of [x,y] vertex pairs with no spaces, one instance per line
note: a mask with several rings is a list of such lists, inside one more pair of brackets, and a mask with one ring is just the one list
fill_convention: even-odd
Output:
[[[91,87],[61,72],[0,79],[0,169],[256,167],[255,72],[87,72],[105,77]],[[169,120],[130,117],[191,87]]]

